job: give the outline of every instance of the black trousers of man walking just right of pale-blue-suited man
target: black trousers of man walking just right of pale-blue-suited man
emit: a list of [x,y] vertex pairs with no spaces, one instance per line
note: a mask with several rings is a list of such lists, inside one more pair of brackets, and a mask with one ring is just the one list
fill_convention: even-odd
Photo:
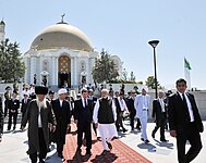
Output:
[[165,127],[166,127],[166,116],[162,115],[162,117],[159,117],[156,120],[156,126],[153,130],[153,134],[156,134],[156,131],[160,128],[160,140],[166,139],[165,137]]

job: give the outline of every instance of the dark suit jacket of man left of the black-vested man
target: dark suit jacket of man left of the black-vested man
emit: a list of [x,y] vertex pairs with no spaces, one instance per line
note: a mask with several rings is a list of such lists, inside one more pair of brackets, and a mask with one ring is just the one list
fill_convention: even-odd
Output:
[[80,124],[90,123],[93,121],[93,101],[87,99],[87,105],[84,108],[82,98],[74,101],[74,120]]

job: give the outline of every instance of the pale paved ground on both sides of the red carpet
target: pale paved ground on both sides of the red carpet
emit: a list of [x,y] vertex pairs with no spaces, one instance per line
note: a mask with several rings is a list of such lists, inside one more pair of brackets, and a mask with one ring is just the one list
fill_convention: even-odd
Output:
[[[175,163],[177,150],[175,139],[166,133],[166,138],[169,142],[159,141],[159,133],[156,134],[157,139],[153,139],[150,133],[155,127],[154,123],[148,123],[148,138],[150,142],[148,145],[142,143],[141,133],[137,130],[130,131],[129,122],[124,122],[124,126],[129,129],[125,134],[120,133],[120,140],[137,151],[140,154],[148,159],[154,163]],[[206,128],[206,122],[204,122]],[[4,131],[3,141],[0,142],[0,163],[28,163],[29,159],[26,154],[27,151],[27,131],[21,131],[20,125],[17,125],[15,131]],[[7,129],[7,125],[4,125]],[[203,149],[193,163],[206,162],[206,131],[202,134]],[[189,146],[187,146],[189,148]],[[46,160],[47,163],[60,163],[61,160],[57,156],[54,145],[52,145],[51,152],[48,153]]]

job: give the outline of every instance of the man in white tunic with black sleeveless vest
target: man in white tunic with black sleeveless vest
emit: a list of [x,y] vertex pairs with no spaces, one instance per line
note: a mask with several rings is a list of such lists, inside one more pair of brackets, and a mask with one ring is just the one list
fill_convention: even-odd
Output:
[[95,104],[93,120],[101,136],[104,147],[102,155],[107,154],[107,149],[112,149],[111,139],[118,137],[114,122],[117,121],[116,105],[109,98],[109,90],[101,90],[101,98]]

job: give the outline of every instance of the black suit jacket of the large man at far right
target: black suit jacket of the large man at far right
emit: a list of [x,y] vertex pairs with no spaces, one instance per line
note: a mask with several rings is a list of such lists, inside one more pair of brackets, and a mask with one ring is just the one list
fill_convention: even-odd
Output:
[[[186,92],[186,96],[189,97],[189,100],[192,105],[194,123],[198,131],[202,133],[204,130],[203,123],[201,120],[201,115],[198,113],[194,96],[189,92]],[[170,130],[175,130],[178,134],[184,133],[186,125],[189,123],[186,118],[187,113],[182,102],[182,99],[178,92],[169,97],[168,114]]]

